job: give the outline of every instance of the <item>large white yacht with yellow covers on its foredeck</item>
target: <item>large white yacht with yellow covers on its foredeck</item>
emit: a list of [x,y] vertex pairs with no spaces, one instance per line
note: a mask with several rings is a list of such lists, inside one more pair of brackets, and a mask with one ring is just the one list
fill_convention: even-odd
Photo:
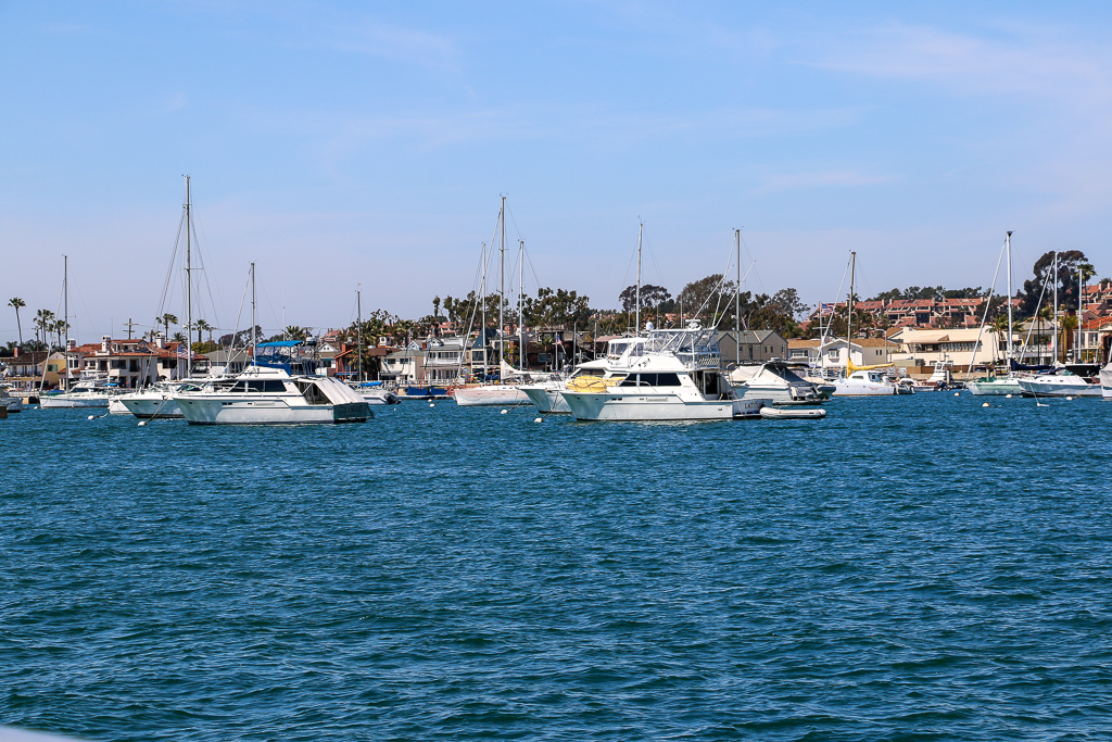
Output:
[[570,379],[563,392],[580,421],[714,421],[759,417],[764,399],[738,399],[722,372],[713,329],[651,330],[629,338],[600,377]]

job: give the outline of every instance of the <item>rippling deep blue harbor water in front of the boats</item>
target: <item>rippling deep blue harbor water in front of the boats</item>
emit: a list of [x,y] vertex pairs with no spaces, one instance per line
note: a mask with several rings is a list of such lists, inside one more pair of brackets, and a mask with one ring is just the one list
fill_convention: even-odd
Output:
[[1112,735],[1112,404],[0,421],[0,723],[89,740]]

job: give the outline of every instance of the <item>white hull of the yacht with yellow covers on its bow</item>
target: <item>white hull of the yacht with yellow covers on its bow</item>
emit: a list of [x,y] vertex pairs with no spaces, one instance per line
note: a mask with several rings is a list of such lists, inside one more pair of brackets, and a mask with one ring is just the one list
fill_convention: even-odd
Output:
[[725,421],[759,417],[766,399],[684,400],[674,394],[564,392],[579,421]]

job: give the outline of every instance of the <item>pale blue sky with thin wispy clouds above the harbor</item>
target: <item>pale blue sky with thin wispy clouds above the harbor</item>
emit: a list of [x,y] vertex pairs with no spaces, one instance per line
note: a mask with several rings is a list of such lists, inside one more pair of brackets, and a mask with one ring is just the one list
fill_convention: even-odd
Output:
[[810,303],[851,249],[866,296],[986,285],[1007,229],[1017,283],[1049,249],[1112,275],[1110,16],[0,2],[0,293],[54,309],[64,253],[82,339],[150,323],[186,172],[224,328],[251,260],[267,328],[344,326],[357,284],[365,309],[428,314],[473,288],[502,194],[532,289],[596,307],[633,280],[638,218],[645,279],[673,291],[725,267],[735,227],[747,288]]

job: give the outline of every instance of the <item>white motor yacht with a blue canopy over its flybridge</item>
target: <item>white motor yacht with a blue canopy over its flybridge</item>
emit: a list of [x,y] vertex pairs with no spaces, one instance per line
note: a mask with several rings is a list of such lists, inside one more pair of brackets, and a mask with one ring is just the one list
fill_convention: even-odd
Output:
[[256,363],[230,378],[173,395],[190,425],[365,423],[374,417],[363,395],[315,373],[301,340],[264,343]]

